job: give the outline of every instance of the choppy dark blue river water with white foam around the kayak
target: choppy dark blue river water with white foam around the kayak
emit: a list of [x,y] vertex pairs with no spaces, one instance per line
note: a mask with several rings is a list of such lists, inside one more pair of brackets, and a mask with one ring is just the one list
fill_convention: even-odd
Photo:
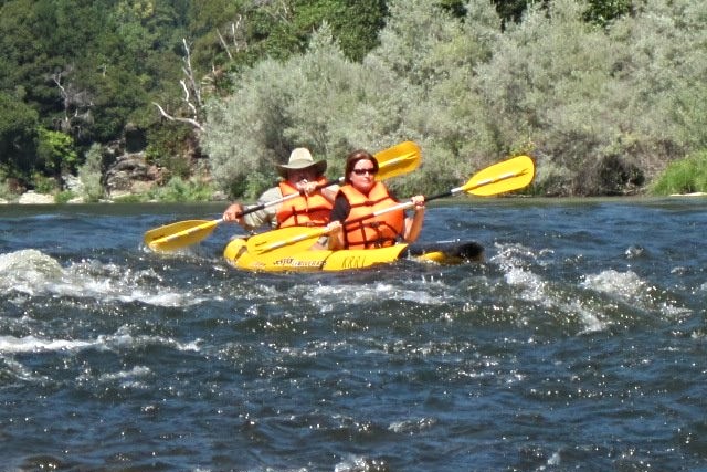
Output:
[[706,203],[443,202],[485,263],[327,274],[143,248],[222,206],[2,206],[0,470],[705,471]]

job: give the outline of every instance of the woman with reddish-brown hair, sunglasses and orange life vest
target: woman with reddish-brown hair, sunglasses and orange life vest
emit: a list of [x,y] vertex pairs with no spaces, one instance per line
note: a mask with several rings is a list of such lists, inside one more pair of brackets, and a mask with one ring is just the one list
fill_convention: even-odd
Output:
[[[393,245],[398,241],[413,242],[422,230],[424,197],[412,197],[414,216],[404,210],[392,210],[363,219],[380,210],[394,207],[399,201],[390,195],[383,182],[376,180],[378,161],[366,150],[356,150],[346,159],[345,185],[334,200],[329,249],[371,249]],[[356,223],[346,221],[362,219]]]

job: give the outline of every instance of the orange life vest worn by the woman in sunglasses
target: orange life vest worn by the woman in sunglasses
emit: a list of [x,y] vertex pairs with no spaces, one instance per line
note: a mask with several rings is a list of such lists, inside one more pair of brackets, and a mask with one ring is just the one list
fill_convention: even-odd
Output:
[[[398,204],[390,196],[386,186],[376,182],[368,196],[365,196],[352,186],[347,185],[339,189],[351,206],[347,220],[366,217],[374,211],[384,210]],[[345,224],[344,237],[348,249],[370,249],[393,245],[405,227],[404,210],[394,210],[369,218],[358,223]]]

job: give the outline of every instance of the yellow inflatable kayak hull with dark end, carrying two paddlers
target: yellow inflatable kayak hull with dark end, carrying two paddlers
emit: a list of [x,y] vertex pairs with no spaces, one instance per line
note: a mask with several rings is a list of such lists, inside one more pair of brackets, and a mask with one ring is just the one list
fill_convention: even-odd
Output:
[[359,250],[309,250],[263,261],[247,252],[245,239],[234,239],[225,247],[223,256],[229,265],[261,272],[318,272],[349,271],[377,264],[392,263],[399,259],[439,264],[483,262],[484,248],[476,242],[443,242],[431,244],[395,244],[389,248]]

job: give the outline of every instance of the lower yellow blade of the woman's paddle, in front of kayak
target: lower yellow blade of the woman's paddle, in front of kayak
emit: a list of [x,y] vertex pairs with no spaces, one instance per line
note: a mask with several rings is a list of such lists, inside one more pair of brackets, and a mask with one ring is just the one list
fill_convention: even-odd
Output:
[[317,242],[317,238],[326,233],[326,228],[281,228],[250,237],[246,248],[247,252],[258,261],[274,261],[308,250]]

